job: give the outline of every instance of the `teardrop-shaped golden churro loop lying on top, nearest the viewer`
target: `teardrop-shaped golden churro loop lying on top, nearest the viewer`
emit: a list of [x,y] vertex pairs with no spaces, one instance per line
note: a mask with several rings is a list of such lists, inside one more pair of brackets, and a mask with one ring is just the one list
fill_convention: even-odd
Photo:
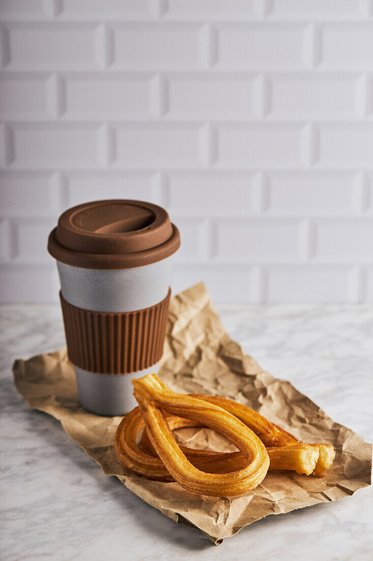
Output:
[[[158,457],[178,483],[201,495],[234,496],[263,481],[269,467],[264,444],[234,415],[202,399],[172,392],[156,374],[132,380],[147,432]],[[198,421],[225,435],[243,454],[246,465],[229,473],[207,473],[193,466],[180,450],[164,412]]]

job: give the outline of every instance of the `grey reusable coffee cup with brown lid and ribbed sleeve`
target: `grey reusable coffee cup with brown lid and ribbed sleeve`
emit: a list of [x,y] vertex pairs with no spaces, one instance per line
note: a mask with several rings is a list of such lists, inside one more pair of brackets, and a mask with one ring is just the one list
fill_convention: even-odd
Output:
[[137,405],[131,380],[157,373],[179,246],[166,210],[136,200],[74,206],[50,232],[68,357],[88,411],[124,415]]

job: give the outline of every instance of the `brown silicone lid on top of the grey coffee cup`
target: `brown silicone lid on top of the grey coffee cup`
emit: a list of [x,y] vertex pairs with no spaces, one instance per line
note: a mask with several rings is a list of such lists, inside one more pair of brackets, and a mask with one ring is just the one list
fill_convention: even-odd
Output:
[[141,267],[179,246],[179,230],[165,209],[126,199],[73,206],[60,215],[48,239],[50,255],[85,269]]

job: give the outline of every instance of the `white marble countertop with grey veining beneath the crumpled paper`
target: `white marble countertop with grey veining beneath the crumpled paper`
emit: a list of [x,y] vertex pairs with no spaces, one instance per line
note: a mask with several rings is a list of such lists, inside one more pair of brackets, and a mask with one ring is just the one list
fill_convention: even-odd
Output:
[[[231,337],[335,421],[373,440],[373,306],[217,306]],[[373,491],[269,516],[215,546],[144,503],[12,382],[15,358],[64,346],[57,305],[3,305],[0,326],[1,558],[370,559]]]

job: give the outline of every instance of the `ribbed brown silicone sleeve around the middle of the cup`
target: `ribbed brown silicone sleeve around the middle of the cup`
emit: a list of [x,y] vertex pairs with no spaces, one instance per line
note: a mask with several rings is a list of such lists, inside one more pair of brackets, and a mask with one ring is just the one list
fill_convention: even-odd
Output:
[[100,374],[127,374],[160,360],[171,289],[155,306],[106,314],[72,306],[59,293],[71,362]]

